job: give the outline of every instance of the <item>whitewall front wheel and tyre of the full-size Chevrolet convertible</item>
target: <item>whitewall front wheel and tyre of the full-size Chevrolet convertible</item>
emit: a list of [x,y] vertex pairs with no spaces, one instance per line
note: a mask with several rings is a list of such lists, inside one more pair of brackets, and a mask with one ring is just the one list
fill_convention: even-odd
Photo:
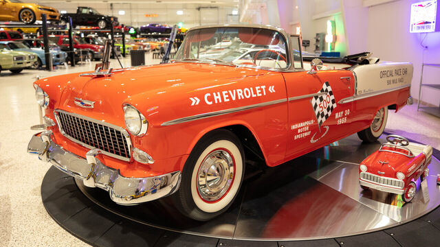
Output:
[[225,212],[241,187],[245,156],[229,130],[214,130],[192,149],[173,194],[175,207],[187,217],[207,221]]

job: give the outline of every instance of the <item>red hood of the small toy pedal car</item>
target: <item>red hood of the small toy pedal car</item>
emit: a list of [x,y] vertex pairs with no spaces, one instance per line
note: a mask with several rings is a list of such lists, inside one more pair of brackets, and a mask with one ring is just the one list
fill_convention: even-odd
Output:
[[412,158],[408,158],[408,156],[403,154],[376,151],[362,163],[367,165],[367,172],[369,173],[378,174],[377,172],[385,172],[386,176],[395,178],[396,172],[406,171],[406,165],[410,161],[412,161]]

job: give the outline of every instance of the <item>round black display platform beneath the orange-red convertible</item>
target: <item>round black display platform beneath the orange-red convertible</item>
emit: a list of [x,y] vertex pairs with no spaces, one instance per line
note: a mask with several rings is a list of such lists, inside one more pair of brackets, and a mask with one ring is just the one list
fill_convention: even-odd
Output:
[[[361,206],[355,206],[350,200],[353,191],[347,193],[338,190],[337,187],[332,187],[331,180],[326,181],[326,178],[338,176],[338,171],[343,175],[352,169],[350,164],[353,167],[355,163],[362,161],[377,150],[378,145],[380,143],[361,144],[355,138],[349,137],[289,163],[266,169],[263,174],[246,180],[232,207],[210,222],[194,222],[182,217],[173,207],[168,206],[166,199],[134,207],[119,206],[109,200],[107,192],[83,187],[81,181],[77,185],[74,178],[54,167],[49,169],[43,179],[41,195],[47,212],[58,224],[94,246],[440,246],[440,208],[437,207],[430,213],[428,210],[422,217],[412,213],[412,218],[401,219],[408,211],[413,211],[412,204],[393,209],[401,213],[397,215],[400,222],[412,220],[406,224],[391,222],[393,224],[389,224],[390,226],[398,226],[373,227],[369,230],[374,231],[372,233],[338,237],[338,232],[342,233],[339,236],[347,235],[351,228],[354,229],[351,231],[353,234],[359,233],[355,230],[356,226],[365,224],[362,219],[368,220],[369,215],[364,214],[360,218],[346,217],[350,213],[359,214],[359,207],[362,207],[362,212],[369,211],[371,202],[380,204],[381,209],[388,210],[387,207],[391,207],[389,202],[393,202],[392,196],[386,196],[384,202],[379,202],[371,193],[361,193]],[[439,150],[434,150],[433,156],[433,162],[439,163]],[[353,184],[353,181],[349,179],[345,183]],[[344,201],[343,204],[333,206],[347,214],[331,213],[329,210],[328,217],[312,217],[310,219],[314,220],[304,221],[302,224],[296,224],[298,219],[285,218],[286,213],[283,210],[298,209],[298,203],[292,203],[295,200],[313,204],[314,202],[304,200],[301,195],[304,191],[317,189],[327,193],[311,196],[325,198],[330,193],[331,198]],[[437,190],[440,193],[440,189]],[[331,201],[322,201],[316,202],[315,206],[320,204],[323,207],[332,205]],[[354,206],[347,209],[350,204]],[[312,208],[320,210],[319,207]],[[378,215],[383,214],[384,212],[380,212]],[[384,218],[373,219],[370,223],[393,220],[395,216],[390,215],[389,219],[383,216]],[[329,220],[338,218],[338,224],[324,231],[311,228],[314,225],[315,228],[322,228],[322,224],[329,224]],[[348,220],[354,220],[355,223]],[[296,229],[296,225],[304,228]],[[317,239],[325,236],[330,238]]]

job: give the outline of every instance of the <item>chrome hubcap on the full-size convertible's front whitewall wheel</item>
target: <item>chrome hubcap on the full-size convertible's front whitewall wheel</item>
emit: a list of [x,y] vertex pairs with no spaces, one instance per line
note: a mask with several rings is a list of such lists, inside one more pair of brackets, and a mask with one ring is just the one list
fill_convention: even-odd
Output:
[[213,202],[228,192],[234,180],[234,159],[225,150],[214,150],[202,161],[197,174],[199,196]]

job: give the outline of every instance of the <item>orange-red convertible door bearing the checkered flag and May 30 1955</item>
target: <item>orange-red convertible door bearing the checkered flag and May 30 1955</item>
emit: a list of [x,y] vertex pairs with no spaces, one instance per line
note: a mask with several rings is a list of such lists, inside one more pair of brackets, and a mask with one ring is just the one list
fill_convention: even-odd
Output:
[[289,99],[289,132],[286,156],[294,158],[347,135],[351,103],[338,104],[353,96],[351,71],[303,69],[300,39],[292,37],[292,58],[296,72],[283,73]]

